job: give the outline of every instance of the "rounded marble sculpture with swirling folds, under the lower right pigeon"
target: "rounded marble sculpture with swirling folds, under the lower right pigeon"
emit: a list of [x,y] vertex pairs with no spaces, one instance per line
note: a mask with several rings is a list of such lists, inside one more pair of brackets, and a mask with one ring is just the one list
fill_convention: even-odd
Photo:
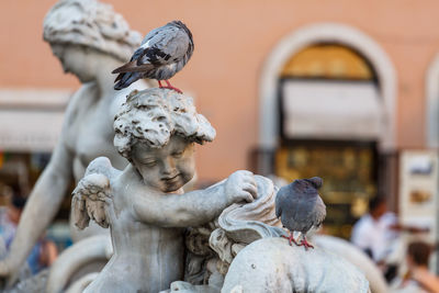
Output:
[[[340,246],[333,253],[334,246],[327,241],[320,246],[322,236],[315,249],[305,250],[280,237],[288,232],[280,228],[274,212],[278,188],[267,178],[255,179],[258,193],[254,202],[233,204],[199,233],[188,235],[189,256],[192,252],[195,257],[189,258],[184,281],[172,282],[160,293],[370,292],[362,271],[365,268],[369,275],[376,278],[373,268],[357,269],[351,264],[356,262],[348,262],[351,258],[345,259],[338,251]],[[200,235],[209,241],[200,240]],[[200,259],[205,266],[196,266],[203,263]]]

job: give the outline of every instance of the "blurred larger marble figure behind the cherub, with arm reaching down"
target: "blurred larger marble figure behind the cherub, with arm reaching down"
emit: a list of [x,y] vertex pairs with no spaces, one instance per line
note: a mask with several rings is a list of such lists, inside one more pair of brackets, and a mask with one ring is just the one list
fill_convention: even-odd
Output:
[[[10,252],[0,261],[0,275],[8,277],[9,283],[16,279],[19,268],[58,212],[71,180],[79,181],[99,156],[108,157],[116,168],[127,165],[113,147],[111,125],[132,89],[116,93],[111,70],[130,58],[140,35],[131,31],[111,5],[95,0],[60,0],[44,20],[44,40],[65,72],[75,75],[82,86],[70,99],[59,142],[30,194]],[[97,227],[82,233],[72,228],[74,240],[102,233]]]

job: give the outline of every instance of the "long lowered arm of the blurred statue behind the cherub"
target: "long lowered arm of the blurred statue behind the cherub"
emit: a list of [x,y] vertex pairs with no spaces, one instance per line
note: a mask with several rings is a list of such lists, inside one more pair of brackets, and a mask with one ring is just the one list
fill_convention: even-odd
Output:
[[61,138],[29,196],[10,251],[0,262],[0,275],[16,273],[55,217],[72,179],[71,166],[72,156]]

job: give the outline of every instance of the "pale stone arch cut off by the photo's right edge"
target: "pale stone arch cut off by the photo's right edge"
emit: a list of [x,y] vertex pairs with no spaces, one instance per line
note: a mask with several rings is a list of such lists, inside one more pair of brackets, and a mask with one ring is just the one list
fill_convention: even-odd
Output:
[[426,94],[427,146],[439,148],[439,53],[427,71]]

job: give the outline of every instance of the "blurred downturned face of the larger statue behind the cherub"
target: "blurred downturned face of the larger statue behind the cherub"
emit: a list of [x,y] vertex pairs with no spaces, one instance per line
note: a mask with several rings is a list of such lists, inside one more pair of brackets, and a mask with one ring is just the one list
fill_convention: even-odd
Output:
[[71,72],[83,82],[94,80],[94,61],[89,57],[89,49],[83,46],[68,44],[52,44],[53,54],[58,57],[64,72]]

